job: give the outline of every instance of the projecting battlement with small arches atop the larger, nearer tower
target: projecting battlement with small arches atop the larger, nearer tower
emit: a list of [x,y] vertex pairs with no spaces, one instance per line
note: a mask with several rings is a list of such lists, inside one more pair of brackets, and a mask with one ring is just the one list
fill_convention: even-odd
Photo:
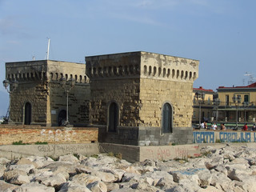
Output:
[[92,79],[154,78],[194,82],[199,61],[148,52],[86,57],[86,74]]

